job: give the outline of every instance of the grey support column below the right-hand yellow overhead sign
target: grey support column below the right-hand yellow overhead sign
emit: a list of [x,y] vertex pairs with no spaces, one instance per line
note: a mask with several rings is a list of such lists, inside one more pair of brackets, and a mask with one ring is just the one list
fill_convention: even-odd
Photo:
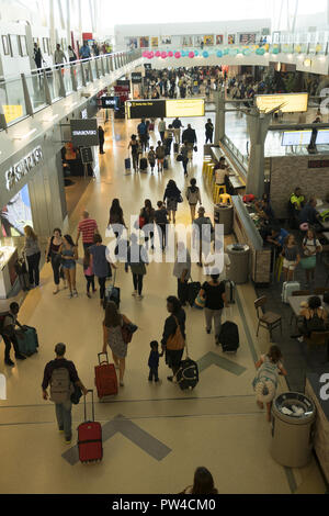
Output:
[[247,115],[247,125],[250,136],[250,156],[247,176],[247,192],[261,198],[264,193],[264,145],[271,123],[272,114],[260,114],[253,108]]

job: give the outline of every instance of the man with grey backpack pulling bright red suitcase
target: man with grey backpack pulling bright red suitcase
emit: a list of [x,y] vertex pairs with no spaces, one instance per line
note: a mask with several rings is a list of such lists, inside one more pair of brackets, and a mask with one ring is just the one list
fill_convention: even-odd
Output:
[[50,385],[50,401],[55,403],[58,429],[60,434],[65,434],[66,444],[70,445],[72,440],[71,396],[76,388],[80,389],[84,396],[88,390],[80,381],[73,362],[64,358],[65,352],[65,344],[60,343],[55,346],[56,358],[45,367],[42,389],[43,399],[48,400],[47,389]]

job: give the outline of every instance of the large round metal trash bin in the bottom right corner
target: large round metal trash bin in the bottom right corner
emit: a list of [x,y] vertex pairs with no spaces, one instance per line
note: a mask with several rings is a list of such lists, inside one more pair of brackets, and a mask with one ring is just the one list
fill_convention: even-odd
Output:
[[280,394],[272,407],[271,455],[282,465],[303,468],[311,458],[316,407],[305,394]]

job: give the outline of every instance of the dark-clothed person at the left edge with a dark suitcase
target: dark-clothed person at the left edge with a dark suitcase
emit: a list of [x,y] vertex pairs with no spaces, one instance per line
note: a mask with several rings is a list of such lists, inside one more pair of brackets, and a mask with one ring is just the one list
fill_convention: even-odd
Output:
[[16,360],[25,360],[26,357],[21,355],[18,337],[15,335],[15,327],[19,326],[23,332],[22,326],[18,321],[18,314],[20,312],[20,305],[18,303],[11,303],[10,311],[0,316],[0,335],[4,341],[4,363],[13,367],[14,362],[10,358],[11,345],[13,345]]

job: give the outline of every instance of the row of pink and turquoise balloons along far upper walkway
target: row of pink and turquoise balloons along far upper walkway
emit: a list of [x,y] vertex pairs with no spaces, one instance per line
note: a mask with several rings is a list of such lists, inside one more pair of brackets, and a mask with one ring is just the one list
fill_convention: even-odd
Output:
[[[271,51],[270,51],[270,45],[266,43],[264,46],[260,47],[259,45],[253,45],[252,47],[243,47],[242,49],[240,48],[224,48],[223,51],[203,51],[202,53],[198,53],[198,51],[169,51],[169,52],[160,52],[157,51],[151,52],[151,51],[145,51],[143,53],[143,57],[146,59],[154,59],[155,57],[161,58],[161,59],[167,59],[167,57],[175,57],[175,59],[180,59],[181,57],[189,57],[190,59],[193,59],[194,57],[204,57],[207,59],[211,55],[215,55],[219,59],[225,56],[231,56],[236,57],[239,54],[243,56],[251,56],[251,54],[256,54],[257,56],[264,56],[266,53],[271,52],[271,54],[277,55],[280,53],[280,48],[277,45],[273,45]],[[285,48],[283,48],[283,52],[286,52]]]

